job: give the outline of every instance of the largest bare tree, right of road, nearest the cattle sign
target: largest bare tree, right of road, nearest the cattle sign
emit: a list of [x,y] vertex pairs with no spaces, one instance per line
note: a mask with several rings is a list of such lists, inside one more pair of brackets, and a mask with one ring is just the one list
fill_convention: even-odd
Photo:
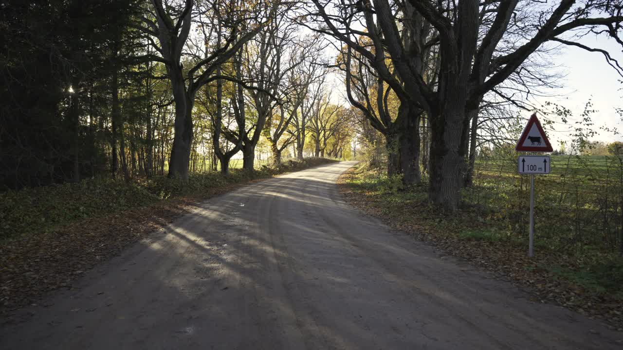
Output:
[[[366,57],[401,102],[426,111],[431,130],[429,199],[450,211],[457,209],[460,202],[470,115],[486,93],[510,77],[541,45],[553,41],[597,51],[621,71],[605,50],[577,42],[578,35],[592,32],[609,35],[623,44],[619,37],[623,22],[620,0],[563,0],[553,6],[522,2],[521,7],[518,0],[313,2],[313,15],[323,24],[319,31],[340,39]],[[516,11],[537,15],[515,22]],[[344,13],[348,16],[340,16]],[[487,14],[493,16],[493,21]],[[366,32],[351,25],[353,18],[362,17]],[[430,33],[414,35],[424,40],[405,45],[404,20],[411,21],[414,33],[427,27]],[[523,30],[518,35],[511,27]],[[374,50],[353,37],[368,37]],[[502,42],[517,45],[501,50]],[[427,48],[433,46],[439,51],[439,77],[437,83],[430,85],[424,76],[423,62]],[[391,61],[392,70],[388,69],[387,60]]]

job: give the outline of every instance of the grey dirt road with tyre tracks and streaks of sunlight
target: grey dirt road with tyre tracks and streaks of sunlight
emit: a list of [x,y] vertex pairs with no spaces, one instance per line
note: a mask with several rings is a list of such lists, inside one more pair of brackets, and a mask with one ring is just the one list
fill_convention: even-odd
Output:
[[2,319],[0,349],[621,349],[359,214],[338,163],[210,199]]

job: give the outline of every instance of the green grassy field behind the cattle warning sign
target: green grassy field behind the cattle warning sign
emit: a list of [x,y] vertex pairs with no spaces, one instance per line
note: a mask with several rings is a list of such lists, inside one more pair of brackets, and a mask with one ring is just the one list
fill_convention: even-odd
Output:
[[[527,230],[530,175],[517,174],[516,155],[478,159],[465,207],[510,234]],[[622,163],[606,156],[552,156],[551,174],[535,178],[535,232],[555,249],[621,252]]]

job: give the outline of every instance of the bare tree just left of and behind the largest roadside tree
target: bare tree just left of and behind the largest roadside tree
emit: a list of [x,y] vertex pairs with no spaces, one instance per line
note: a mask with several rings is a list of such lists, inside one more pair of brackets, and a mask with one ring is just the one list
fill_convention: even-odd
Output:
[[[389,154],[388,173],[404,173],[405,182],[419,182],[420,137],[417,126],[424,109],[421,103],[411,98],[405,78],[413,78],[413,75],[416,75],[424,84],[433,81],[424,77],[426,60],[433,46],[429,43],[432,40],[430,26],[418,21],[414,8],[408,2],[395,2],[392,6],[386,3],[387,8],[384,7],[381,12],[375,9],[370,1],[337,3],[313,0],[313,3],[315,11],[310,13],[310,17],[318,19],[320,24],[310,27],[346,44],[346,48],[340,48],[341,55],[346,57],[344,60],[346,64],[373,69],[373,72],[364,71],[364,73],[374,77],[370,85],[378,90],[377,98],[365,100],[365,103],[352,98],[351,93],[348,93],[348,98],[351,104],[363,111],[373,126],[386,136]],[[394,24],[391,31],[383,27],[381,13],[391,21],[399,21],[401,28],[397,27],[396,22],[392,22]],[[361,27],[366,31],[361,31]],[[396,64],[390,62],[390,47],[400,47],[403,64],[409,64],[416,70],[409,77],[402,77],[397,71]],[[360,85],[364,80],[363,74],[358,74],[357,69],[351,69],[352,66],[343,69],[346,74],[347,90],[352,83]],[[422,77],[426,78],[426,81]],[[384,115],[383,96],[389,90],[395,93],[400,102],[399,113],[395,116]],[[373,110],[375,113],[371,113]]]

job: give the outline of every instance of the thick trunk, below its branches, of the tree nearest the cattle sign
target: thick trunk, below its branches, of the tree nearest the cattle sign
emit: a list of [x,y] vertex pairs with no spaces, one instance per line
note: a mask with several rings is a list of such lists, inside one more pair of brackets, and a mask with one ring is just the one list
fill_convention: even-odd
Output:
[[[458,102],[454,102],[457,101]],[[431,120],[429,200],[452,212],[459,207],[464,158],[465,103],[447,98],[444,115]]]

